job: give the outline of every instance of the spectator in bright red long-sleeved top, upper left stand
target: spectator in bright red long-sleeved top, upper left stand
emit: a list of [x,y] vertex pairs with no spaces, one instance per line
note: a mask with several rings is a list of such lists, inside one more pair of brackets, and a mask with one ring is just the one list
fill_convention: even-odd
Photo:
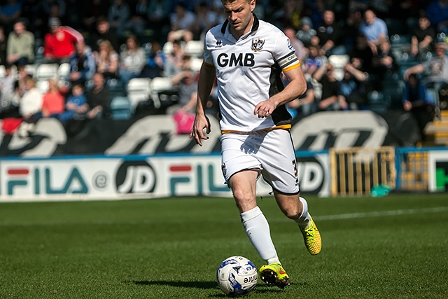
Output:
[[61,26],[59,18],[50,18],[48,26],[50,32],[45,34],[43,44],[45,62],[68,62],[75,53],[75,43],[84,41],[83,35],[71,27]]

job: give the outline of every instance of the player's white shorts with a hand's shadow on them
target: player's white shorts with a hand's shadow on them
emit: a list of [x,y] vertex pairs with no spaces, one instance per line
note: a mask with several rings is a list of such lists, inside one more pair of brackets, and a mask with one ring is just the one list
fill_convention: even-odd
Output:
[[272,189],[284,194],[300,191],[295,149],[289,130],[231,132],[221,135],[225,181],[244,169],[259,169]]

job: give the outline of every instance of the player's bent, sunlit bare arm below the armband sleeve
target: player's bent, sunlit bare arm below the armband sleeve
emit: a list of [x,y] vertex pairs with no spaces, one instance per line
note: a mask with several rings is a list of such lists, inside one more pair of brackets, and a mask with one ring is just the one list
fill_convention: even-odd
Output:
[[293,69],[283,71],[283,73],[288,78],[288,85],[281,92],[255,106],[253,114],[258,115],[258,118],[270,116],[277,106],[291,102],[307,91],[307,81],[305,81],[300,64]]

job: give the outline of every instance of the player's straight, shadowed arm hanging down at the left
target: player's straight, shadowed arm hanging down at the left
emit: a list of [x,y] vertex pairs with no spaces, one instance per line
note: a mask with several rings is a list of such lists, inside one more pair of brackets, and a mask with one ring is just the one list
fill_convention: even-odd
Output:
[[209,137],[204,135],[204,129],[207,134],[210,133],[209,118],[205,116],[205,106],[210,96],[216,77],[215,67],[211,64],[202,62],[202,67],[199,74],[199,81],[197,82],[197,102],[196,102],[196,117],[193,128],[190,132],[190,138],[194,138],[196,143],[202,146],[202,139],[207,140]]

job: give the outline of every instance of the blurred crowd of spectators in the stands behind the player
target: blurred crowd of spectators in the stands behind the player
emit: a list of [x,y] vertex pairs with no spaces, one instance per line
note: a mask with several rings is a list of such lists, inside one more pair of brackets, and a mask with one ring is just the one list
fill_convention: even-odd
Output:
[[[192,111],[198,69],[186,45],[225,20],[221,7],[221,0],[2,1],[0,117],[30,127],[46,117],[107,118],[117,89],[126,95],[133,78],[155,77],[170,78],[179,92],[161,113]],[[283,30],[302,62],[308,90],[288,104],[295,120],[379,104],[379,112],[418,110],[424,126],[447,88],[448,0],[258,0],[254,13]],[[41,64],[69,70],[42,84]],[[384,97],[371,97],[378,93]],[[208,106],[217,112],[214,97]]]

